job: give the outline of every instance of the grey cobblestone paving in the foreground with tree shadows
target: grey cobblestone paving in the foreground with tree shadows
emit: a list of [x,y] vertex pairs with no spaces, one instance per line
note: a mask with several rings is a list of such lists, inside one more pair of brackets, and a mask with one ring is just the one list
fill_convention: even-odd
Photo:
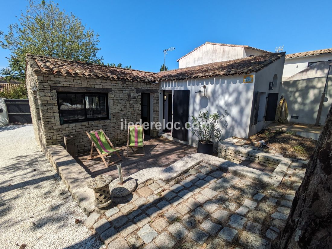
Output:
[[108,248],[274,248],[305,172],[279,187],[202,163],[170,182],[146,181],[94,224]]

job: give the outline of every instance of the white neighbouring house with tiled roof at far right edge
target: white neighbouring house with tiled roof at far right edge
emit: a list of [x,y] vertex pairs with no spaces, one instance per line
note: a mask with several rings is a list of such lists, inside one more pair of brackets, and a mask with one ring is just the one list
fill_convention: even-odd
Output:
[[332,61],[332,48],[286,54],[282,80],[285,81],[294,74],[322,61]]

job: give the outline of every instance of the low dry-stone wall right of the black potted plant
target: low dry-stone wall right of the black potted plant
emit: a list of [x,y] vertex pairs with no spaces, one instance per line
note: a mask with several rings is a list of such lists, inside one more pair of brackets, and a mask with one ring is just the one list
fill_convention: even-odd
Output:
[[233,145],[232,142],[228,142],[227,139],[219,143],[218,157],[234,163],[240,163],[244,160],[256,161],[273,168],[276,168],[281,162],[279,156],[250,148],[236,146]]

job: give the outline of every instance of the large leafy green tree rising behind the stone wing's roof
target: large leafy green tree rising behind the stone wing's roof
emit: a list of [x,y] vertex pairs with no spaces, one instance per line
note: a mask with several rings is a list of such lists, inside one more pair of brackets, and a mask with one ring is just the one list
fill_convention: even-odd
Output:
[[98,37],[72,13],[60,11],[58,4],[29,0],[18,23],[9,25],[8,33],[0,31],[0,45],[11,52],[9,68],[1,74],[20,81],[25,79],[26,54],[42,54],[91,63],[102,63],[97,53]]

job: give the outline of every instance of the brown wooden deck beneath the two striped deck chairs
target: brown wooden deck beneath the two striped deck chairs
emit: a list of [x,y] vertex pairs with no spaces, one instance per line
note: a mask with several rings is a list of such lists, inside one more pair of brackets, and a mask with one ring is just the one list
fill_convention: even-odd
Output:
[[[150,136],[145,137],[145,156],[126,157],[127,147],[122,146],[120,148],[123,150],[121,155],[124,154],[123,160],[119,162],[121,163],[124,176],[129,176],[142,169],[151,167],[167,167],[179,159],[197,152],[196,147],[171,141],[164,137],[153,138]],[[117,167],[105,167],[100,158],[87,160],[88,155],[89,153],[78,155],[76,160],[89,175],[92,177],[109,175],[113,179],[118,178]],[[111,159],[117,159],[116,155],[112,155]],[[106,157],[106,160],[108,161],[109,157]]]

